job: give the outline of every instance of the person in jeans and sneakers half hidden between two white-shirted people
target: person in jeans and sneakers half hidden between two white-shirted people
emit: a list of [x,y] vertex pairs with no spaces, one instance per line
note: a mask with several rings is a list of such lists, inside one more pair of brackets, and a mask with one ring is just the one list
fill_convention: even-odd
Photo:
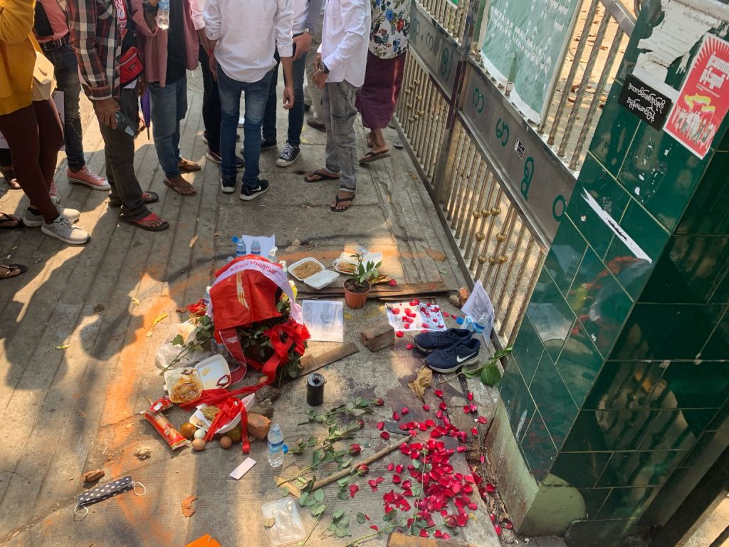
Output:
[[[300,156],[301,128],[304,125],[304,74],[306,54],[319,23],[322,0],[294,0],[294,107],[289,110],[289,132],[286,146],[278,155],[276,165],[288,167]],[[278,53],[276,53],[278,60]],[[263,141],[261,150],[276,148],[276,85],[278,84],[278,63],[273,69],[268,105],[263,118]]]

